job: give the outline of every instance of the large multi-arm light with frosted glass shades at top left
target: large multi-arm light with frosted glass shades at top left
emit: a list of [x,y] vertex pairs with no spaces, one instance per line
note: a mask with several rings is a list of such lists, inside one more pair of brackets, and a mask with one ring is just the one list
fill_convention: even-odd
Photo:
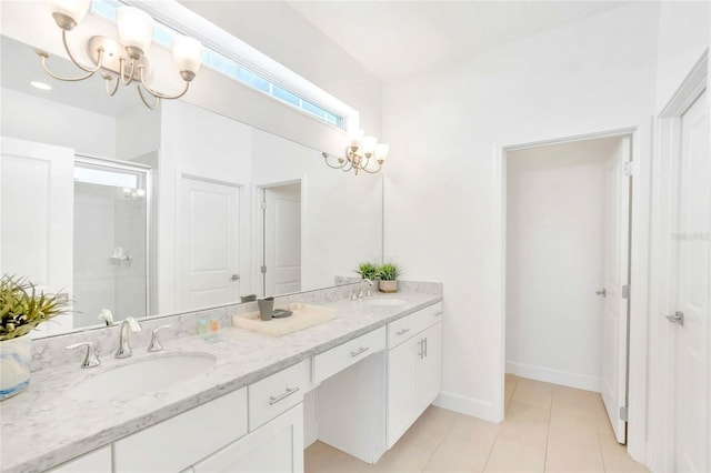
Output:
[[[71,31],[83,20],[91,6],[91,0],[51,0],[52,18],[62,30],[62,42],[69,59],[82,71],[79,77],[61,77],[50,71],[47,66],[49,52],[38,50],[42,67],[52,78],[62,81],[81,81],[89,79],[96,72],[101,73],[107,93],[113,97],[119,85],[136,83],[141,100],[151,110],[156,110],[160,99],[179,99],[188,92],[190,82],[194,79],[202,60],[202,44],[189,37],[178,37],[173,41],[173,60],[186,82],[182,91],[168,95],[158,92],[147,83],[151,76],[151,68],[144,52],[153,38],[153,19],[142,10],[133,7],[120,7],[117,10],[117,27],[121,42],[110,38],[93,36],[87,41],[87,53],[93,66],[87,67],[77,61],[74,54],[67,44],[67,32]],[[112,82],[116,80],[116,83]],[[152,95],[149,101],[147,95]],[[152,102],[152,103],[151,103]]]

